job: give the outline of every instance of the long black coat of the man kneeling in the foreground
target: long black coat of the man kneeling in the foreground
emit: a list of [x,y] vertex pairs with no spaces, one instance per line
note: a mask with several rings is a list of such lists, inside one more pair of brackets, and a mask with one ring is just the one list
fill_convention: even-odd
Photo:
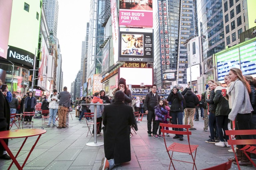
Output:
[[129,105],[116,101],[104,107],[104,151],[105,157],[115,164],[131,160],[129,128],[133,124],[133,110]]

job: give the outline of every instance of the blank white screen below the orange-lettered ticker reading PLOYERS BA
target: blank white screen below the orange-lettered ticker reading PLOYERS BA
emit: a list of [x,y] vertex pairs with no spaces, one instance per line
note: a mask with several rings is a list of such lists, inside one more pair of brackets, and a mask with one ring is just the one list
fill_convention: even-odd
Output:
[[120,67],[118,71],[119,78],[126,79],[126,84],[131,85],[152,85],[153,69],[152,68],[125,68]]

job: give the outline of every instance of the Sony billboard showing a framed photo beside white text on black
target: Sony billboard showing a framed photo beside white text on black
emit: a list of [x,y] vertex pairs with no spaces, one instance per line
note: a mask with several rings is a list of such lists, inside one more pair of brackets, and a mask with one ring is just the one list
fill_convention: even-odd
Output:
[[153,30],[120,28],[119,61],[153,62]]

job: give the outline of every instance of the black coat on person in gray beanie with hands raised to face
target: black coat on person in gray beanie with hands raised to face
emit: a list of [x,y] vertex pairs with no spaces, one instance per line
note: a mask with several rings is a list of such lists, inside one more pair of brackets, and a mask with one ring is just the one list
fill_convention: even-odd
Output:
[[180,92],[174,94],[173,90],[171,90],[167,97],[167,101],[171,102],[170,112],[183,112],[182,100],[183,95]]

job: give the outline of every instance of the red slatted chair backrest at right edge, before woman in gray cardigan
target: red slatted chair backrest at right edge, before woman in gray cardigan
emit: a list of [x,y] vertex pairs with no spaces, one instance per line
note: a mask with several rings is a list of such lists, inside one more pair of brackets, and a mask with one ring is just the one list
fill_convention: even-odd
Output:
[[251,145],[256,144],[256,139],[236,139],[232,140],[231,135],[256,135],[256,130],[226,130],[226,135],[229,135],[229,145]]

